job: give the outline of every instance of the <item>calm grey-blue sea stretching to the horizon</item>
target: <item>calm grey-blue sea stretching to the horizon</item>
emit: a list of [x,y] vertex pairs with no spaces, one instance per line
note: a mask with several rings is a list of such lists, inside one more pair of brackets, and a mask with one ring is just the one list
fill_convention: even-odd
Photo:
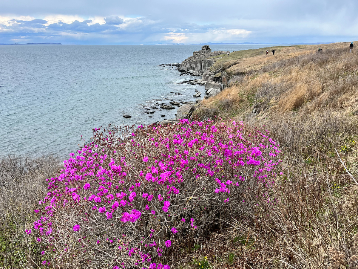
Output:
[[[232,52],[267,46],[210,47]],[[52,152],[65,158],[78,148],[81,135],[89,140],[92,128],[174,118],[176,109],[146,114],[145,105],[163,98],[195,100],[194,90],[203,96],[204,88],[178,84],[193,77],[158,65],[182,62],[200,49],[201,45],[0,46],[0,155]]]

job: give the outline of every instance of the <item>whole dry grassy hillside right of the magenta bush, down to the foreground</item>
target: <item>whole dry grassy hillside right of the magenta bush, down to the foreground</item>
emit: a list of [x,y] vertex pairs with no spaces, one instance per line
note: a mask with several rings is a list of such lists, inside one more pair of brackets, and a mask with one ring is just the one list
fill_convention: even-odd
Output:
[[[196,113],[210,108],[217,117],[265,126],[284,152],[285,176],[271,213],[241,215],[235,235],[227,228],[227,243],[218,244],[220,262],[212,258],[214,246],[199,252],[211,255],[211,268],[358,268],[358,186],[335,153],[357,180],[358,52],[348,46],[285,47],[277,57],[250,52],[220,62],[233,82]],[[237,82],[235,74],[241,74]],[[229,96],[231,106],[220,105]],[[233,237],[245,235],[250,247],[233,244]],[[229,253],[233,263],[225,258]]]

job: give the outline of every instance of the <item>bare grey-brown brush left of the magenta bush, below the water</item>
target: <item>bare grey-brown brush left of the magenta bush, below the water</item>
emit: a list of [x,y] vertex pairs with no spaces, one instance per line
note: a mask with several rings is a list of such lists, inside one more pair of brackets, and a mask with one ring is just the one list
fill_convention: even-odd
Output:
[[40,264],[40,243],[26,240],[33,228],[34,209],[47,193],[46,178],[58,169],[53,155],[32,158],[5,156],[0,158],[0,266],[30,268]]

